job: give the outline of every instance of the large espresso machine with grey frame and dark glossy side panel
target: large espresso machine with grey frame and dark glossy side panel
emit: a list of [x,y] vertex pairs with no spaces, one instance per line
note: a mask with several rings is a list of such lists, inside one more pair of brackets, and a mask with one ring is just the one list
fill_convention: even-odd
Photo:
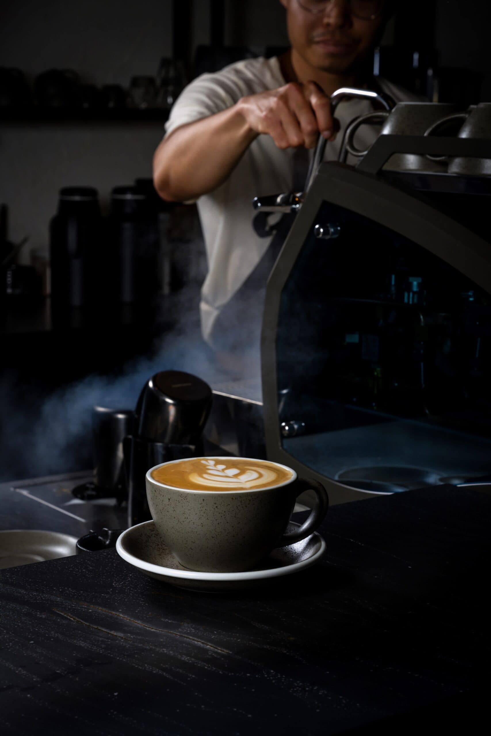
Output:
[[467,130],[379,135],[357,166],[320,163],[320,141],[303,193],[255,202],[295,217],[266,286],[261,389],[226,389],[227,414],[253,403],[261,456],[331,503],[491,487],[491,139]]

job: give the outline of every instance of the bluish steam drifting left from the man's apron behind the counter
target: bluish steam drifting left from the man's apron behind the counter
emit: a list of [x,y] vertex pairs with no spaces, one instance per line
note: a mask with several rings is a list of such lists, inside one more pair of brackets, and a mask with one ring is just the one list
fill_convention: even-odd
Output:
[[[159,371],[184,370],[212,387],[230,381],[202,341],[191,291],[186,287],[177,295],[177,326],[154,344],[151,355],[130,361],[119,375],[88,375],[60,387],[43,401],[37,416],[32,411],[39,405],[35,389],[18,386],[13,374],[4,375],[0,381],[0,481],[90,469],[93,406],[135,408],[144,383]],[[29,411],[24,413],[19,406]]]

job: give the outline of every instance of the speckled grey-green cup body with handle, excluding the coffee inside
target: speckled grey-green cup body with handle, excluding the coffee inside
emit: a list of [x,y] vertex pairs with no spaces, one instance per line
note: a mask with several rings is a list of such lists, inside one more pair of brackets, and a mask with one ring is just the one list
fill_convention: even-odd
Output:
[[[152,472],[158,467],[161,466],[156,465],[146,473],[150,513],[167,547],[189,570],[205,573],[250,570],[274,548],[300,542],[312,534],[328,511],[324,486],[298,478],[291,468],[288,470],[292,478],[278,486],[191,491],[155,481]],[[300,528],[285,533],[295,499],[308,489],[315,494],[314,509]]]

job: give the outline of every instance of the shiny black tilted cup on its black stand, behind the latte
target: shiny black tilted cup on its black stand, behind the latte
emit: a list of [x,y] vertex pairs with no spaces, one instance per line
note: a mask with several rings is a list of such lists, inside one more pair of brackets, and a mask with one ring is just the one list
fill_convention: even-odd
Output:
[[149,378],[135,408],[133,432],[123,440],[128,526],[151,519],[146,471],[154,465],[203,454],[201,435],[210,414],[208,383],[183,371]]

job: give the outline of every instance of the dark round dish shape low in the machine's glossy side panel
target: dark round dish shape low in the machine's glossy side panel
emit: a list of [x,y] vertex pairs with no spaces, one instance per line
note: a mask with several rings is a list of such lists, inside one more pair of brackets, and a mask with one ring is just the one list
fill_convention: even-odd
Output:
[[398,465],[373,465],[351,467],[336,475],[336,481],[361,491],[372,493],[398,493],[424,486],[442,483],[438,473],[421,467]]

